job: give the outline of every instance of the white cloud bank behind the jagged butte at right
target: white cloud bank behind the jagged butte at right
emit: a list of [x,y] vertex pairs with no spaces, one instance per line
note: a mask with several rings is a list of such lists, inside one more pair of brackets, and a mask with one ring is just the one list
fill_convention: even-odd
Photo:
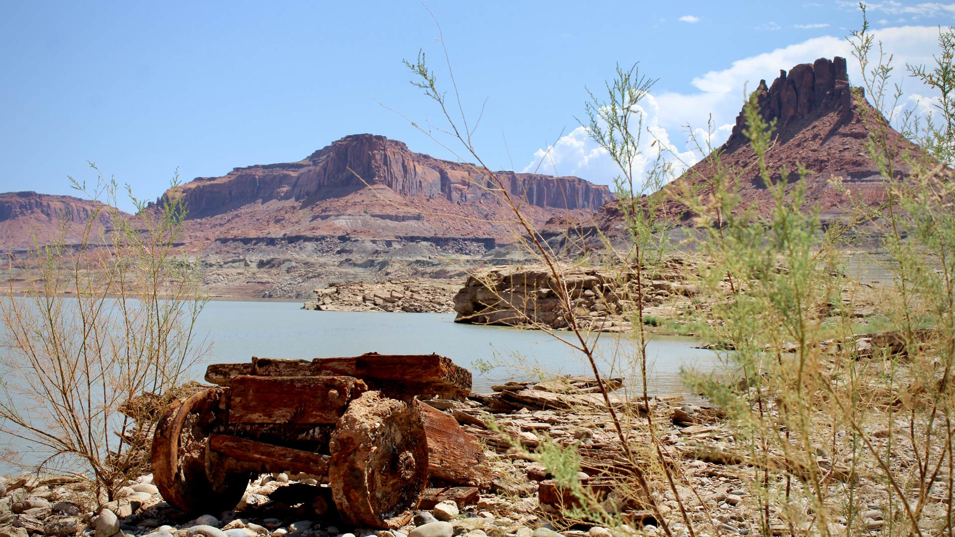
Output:
[[[897,76],[893,82],[902,83],[905,92],[900,113],[902,109],[913,109],[922,116],[932,113],[931,105],[937,102],[937,93],[906,77],[904,65],[930,64],[933,61],[931,54],[937,48],[938,29],[905,26],[881,29],[873,33],[877,39],[881,39],[884,49],[894,54],[893,63]],[[641,142],[640,149],[644,154],[641,173],[646,171],[648,161],[656,156],[660,146],[672,151],[690,165],[695,163],[702,156],[688,147],[685,140],[688,136],[688,125],[697,140],[705,143],[707,129],[703,127],[707,125],[708,119],[711,120],[714,132],[710,141],[714,147],[718,146],[729,138],[746,93],[752,92],[760,79],[771,84],[781,69],[789,70],[796,64],[811,63],[818,57],[831,58],[837,55],[847,59],[851,83],[860,85],[859,63],[852,57],[849,43],[842,37],[822,36],[742,58],[733,61],[726,69],[695,76],[690,82],[695,91],[661,91],[648,96],[642,104],[645,127],[650,129],[652,136],[645,134]],[[654,137],[660,141],[650,147]],[[535,152],[534,160],[524,171],[535,169],[539,169],[541,173],[576,175],[605,184],[611,183],[619,173],[607,153],[587,137],[583,127],[574,129],[552,147]]]

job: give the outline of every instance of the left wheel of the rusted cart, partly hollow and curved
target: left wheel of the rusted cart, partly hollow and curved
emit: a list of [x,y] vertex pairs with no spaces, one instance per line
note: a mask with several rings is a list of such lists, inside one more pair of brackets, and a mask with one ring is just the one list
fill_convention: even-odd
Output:
[[228,472],[206,439],[224,422],[223,390],[211,388],[169,405],[153,437],[153,483],[162,499],[187,513],[231,509],[242,499],[247,472]]

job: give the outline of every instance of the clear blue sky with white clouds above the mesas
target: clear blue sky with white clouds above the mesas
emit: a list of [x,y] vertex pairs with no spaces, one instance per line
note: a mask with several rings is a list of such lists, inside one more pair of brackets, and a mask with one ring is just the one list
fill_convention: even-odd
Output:
[[[476,118],[486,99],[476,133],[484,160],[533,169],[554,144],[541,172],[598,183],[612,171],[574,117],[584,86],[602,87],[616,62],[639,61],[659,78],[647,123],[692,161],[681,125],[703,126],[710,113],[717,126],[731,123],[744,86],[846,54],[842,36],[860,22],[851,2],[427,5],[465,112]],[[933,27],[955,23],[955,3],[873,3],[869,18],[902,61],[923,62]],[[423,49],[446,84],[437,34],[418,2],[8,3],[0,191],[70,194],[66,177],[89,179],[86,161],[95,161],[155,198],[176,168],[185,180],[219,176],[364,132],[453,158],[381,106],[420,124],[439,119],[401,63]],[[932,97],[905,84],[912,106]]]

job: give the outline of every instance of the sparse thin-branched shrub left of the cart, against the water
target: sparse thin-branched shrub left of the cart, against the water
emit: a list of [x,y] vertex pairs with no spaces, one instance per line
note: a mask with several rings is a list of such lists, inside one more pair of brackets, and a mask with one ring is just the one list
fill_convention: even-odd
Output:
[[148,471],[158,411],[207,351],[195,332],[205,301],[198,265],[176,246],[178,180],[159,206],[134,198],[135,216],[117,209],[119,186],[98,171],[95,185],[73,184],[103,203],[78,243],[67,243],[64,214],[58,236],[11,259],[11,271],[35,277],[26,289],[11,277],[0,299],[0,431],[35,446],[39,462],[25,462],[34,471],[88,472],[112,500]]

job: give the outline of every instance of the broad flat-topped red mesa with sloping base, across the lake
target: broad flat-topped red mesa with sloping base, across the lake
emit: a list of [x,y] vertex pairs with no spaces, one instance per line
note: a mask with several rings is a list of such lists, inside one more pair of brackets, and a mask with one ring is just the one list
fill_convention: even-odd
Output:
[[[589,217],[611,199],[577,177],[496,172],[525,216]],[[368,134],[337,140],[306,159],[235,168],[180,186],[190,234],[509,238],[512,209],[476,166],[413,153]],[[170,195],[169,192],[164,194]]]

